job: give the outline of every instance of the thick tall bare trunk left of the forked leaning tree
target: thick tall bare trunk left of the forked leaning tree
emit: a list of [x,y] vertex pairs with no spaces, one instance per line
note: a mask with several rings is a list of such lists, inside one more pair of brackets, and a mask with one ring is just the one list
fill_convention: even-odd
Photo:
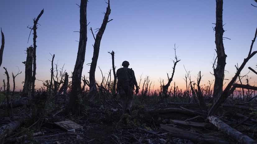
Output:
[[80,1],[80,41],[77,59],[72,73],[70,102],[67,107],[67,110],[73,114],[78,113],[79,106],[77,100],[81,98],[81,76],[87,44],[87,2],[87,0]]

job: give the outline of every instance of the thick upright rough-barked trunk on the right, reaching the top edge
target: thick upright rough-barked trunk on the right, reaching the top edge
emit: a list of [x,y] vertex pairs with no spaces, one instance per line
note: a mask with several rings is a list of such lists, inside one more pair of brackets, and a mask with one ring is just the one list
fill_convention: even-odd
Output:
[[[215,26],[215,44],[217,52],[217,66],[214,69],[214,87],[213,87],[213,104],[223,91],[223,78],[226,65],[226,57],[223,46],[223,0],[216,0],[216,26]],[[214,62],[215,63],[215,62]]]

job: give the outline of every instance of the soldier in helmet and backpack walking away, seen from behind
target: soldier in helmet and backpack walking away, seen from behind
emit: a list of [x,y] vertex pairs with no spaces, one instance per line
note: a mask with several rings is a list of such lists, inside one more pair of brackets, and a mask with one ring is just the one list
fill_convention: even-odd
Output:
[[138,94],[138,86],[135,79],[135,73],[132,68],[128,68],[129,62],[124,61],[122,63],[123,68],[119,68],[116,72],[118,82],[117,82],[117,92],[119,92],[122,100],[122,110],[123,114],[128,113],[131,115],[131,106],[133,102],[133,90],[136,87],[135,93]]

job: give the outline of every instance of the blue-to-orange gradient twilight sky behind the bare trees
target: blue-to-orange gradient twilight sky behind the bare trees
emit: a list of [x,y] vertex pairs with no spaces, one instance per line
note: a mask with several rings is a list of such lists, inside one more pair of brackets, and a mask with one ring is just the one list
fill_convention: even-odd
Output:
[[[91,0],[87,5],[88,41],[86,46],[83,74],[89,76],[87,65],[93,56],[94,38],[89,28],[100,28],[107,4],[104,0]],[[26,60],[25,50],[33,45],[33,35],[27,26],[33,26],[36,18],[44,8],[37,29],[37,74],[38,80],[49,80],[52,56],[58,69],[62,68],[71,76],[78,51],[79,33],[79,0],[1,0],[0,27],[5,36],[3,61],[0,67],[0,86],[5,79],[3,67],[10,76],[11,90],[13,87],[11,72],[22,74],[16,76],[16,90],[22,89]],[[235,65],[241,65],[247,57],[257,27],[257,5],[254,0],[224,0],[223,24],[226,59],[224,83],[228,83],[236,72]],[[111,14],[101,41],[99,59],[96,69],[96,80],[101,81],[103,74],[107,77],[112,68],[111,55],[115,52],[115,66],[121,67],[124,60],[130,62],[139,84],[142,77],[149,76],[152,86],[160,86],[160,80],[167,83],[167,73],[172,75],[174,45],[178,59],[172,85],[176,82],[184,89],[186,71],[190,71],[192,81],[196,81],[201,71],[202,82],[214,80],[212,63],[215,59],[215,0],[110,0]],[[96,34],[96,33],[95,33]],[[253,51],[257,50],[256,44]],[[256,70],[257,56],[247,63],[241,75],[249,72],[247,67]],[[249,73],[250,85],[257,84],[257,76]],[[113,79],[113,78],[112,78]],[[42,86],[36,80],[36,87]],[[225,84],[226,85],[226,84]]]

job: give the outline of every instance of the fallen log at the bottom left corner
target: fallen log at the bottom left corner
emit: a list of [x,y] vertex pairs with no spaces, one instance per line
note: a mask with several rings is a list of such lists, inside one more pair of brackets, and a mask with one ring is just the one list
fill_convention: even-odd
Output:
[[16,128],[18,128],[21,123],[23,122],[24,119],[18,119],[15,120],[9,124],[6,124],[2,127],[0,127],[0,142],[3,143],[4,142],[4,138],[11,134]]

